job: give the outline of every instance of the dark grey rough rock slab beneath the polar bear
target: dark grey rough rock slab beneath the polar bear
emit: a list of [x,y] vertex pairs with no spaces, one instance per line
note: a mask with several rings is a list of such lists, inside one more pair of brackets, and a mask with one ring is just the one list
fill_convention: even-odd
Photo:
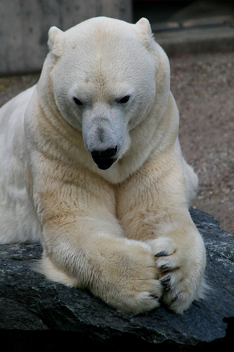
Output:
[[200,350],[225,343],[234,327],[234,237],[211,215],[190,212],[205,241],[210,290],[184,315],[163,306],[147,314],[116,312],[89,292],[32,271],[40,244],[0,245],[0,337],[6,350],[30,350],[31,343],[53,350],[63,339],[69,339],[70,351],[78,341],[95,350],[122,350],[131,343],[157,351],[168,344],[173,350]]

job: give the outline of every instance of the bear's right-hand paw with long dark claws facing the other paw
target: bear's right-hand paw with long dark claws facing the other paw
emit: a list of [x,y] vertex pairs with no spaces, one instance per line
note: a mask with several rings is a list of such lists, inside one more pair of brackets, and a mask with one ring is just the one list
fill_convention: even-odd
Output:
[[193,300],[203,297],[205,290],[203,242],[199,241],[198,247],[188,247],[176,244],[173,238],[159,237],[148,244],[154,250],[156,266],[161,271],[162,301],[176,313],[183,313]]

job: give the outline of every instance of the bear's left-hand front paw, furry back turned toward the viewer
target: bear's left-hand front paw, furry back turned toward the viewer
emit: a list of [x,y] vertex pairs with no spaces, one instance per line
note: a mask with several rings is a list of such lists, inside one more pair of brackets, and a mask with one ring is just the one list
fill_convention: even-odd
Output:
[[[89,286],[90,291],[115,309],[143,313],[160,305],[163,287],[160,270],[149,246],[141,242],[119,240],[118,250],[106,248],[102,257],[95,255],[93,268],[103,266]],[[103,261],[104,257],[104,261]],[[96,262],[98,259],[98,263]]]

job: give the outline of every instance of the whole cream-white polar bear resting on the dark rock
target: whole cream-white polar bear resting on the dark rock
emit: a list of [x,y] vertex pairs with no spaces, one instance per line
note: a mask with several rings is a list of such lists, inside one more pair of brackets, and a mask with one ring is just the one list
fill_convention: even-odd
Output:
[[0,110],[0,241],[41,242],[37,270],[120,311],[202,297],[170,69],[148,20],[49,31],[36,86]]

